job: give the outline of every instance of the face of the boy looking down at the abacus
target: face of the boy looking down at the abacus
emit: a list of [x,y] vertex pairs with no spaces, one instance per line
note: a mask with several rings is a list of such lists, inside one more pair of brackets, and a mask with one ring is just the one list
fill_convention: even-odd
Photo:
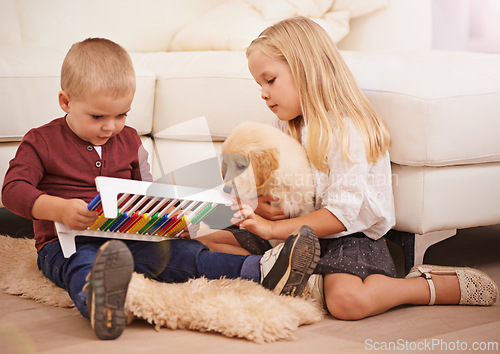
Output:
[[122,131],[133,98],[133,92],[117,98],[92,93],[75,101],[61,91],[59,105],[67,113],[68,126],[80,139],[104,145]]

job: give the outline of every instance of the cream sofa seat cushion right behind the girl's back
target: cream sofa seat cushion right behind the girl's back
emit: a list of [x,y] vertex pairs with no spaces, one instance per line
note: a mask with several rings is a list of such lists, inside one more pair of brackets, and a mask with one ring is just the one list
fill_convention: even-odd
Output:
[[500,161],[500,55],[345,52],[408,166]]

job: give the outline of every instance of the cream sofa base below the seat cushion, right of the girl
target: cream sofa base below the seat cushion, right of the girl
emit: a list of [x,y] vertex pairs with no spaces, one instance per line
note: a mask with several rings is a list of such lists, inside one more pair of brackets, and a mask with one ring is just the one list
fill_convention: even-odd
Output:
[[392,165],[396,226],[425,234],[500,224],[500,163]]

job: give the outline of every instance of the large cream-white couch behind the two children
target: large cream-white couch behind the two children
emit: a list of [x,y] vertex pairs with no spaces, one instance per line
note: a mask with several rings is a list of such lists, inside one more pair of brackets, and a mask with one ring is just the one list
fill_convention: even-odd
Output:
[[407,265],[457,229],[499,223],[500,57],[431,51],[430,0],[0,0],[0,182],[22,136],[62,116],[69,46],[99,36],[133,58],[128,124],[144,137],[154,176],[214,183],[217,166],[200,171],[200,162],[238,123],[272,118],[244,48],[296,14],[332,34],[390,126],[393,237]]

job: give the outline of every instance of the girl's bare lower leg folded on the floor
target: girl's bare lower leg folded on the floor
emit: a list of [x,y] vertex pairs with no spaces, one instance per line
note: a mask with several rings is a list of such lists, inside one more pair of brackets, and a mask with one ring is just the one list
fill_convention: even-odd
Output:
[[[436,304],[458,304],[460,287],[455,275],[432,275]],[[362,280],[352,274],[332,273],[324,277],[325,300],[332,316],[358,320],[383,313],[393,307],[427,305],[430,290],[423,277],[390,278],[373,274]]]

